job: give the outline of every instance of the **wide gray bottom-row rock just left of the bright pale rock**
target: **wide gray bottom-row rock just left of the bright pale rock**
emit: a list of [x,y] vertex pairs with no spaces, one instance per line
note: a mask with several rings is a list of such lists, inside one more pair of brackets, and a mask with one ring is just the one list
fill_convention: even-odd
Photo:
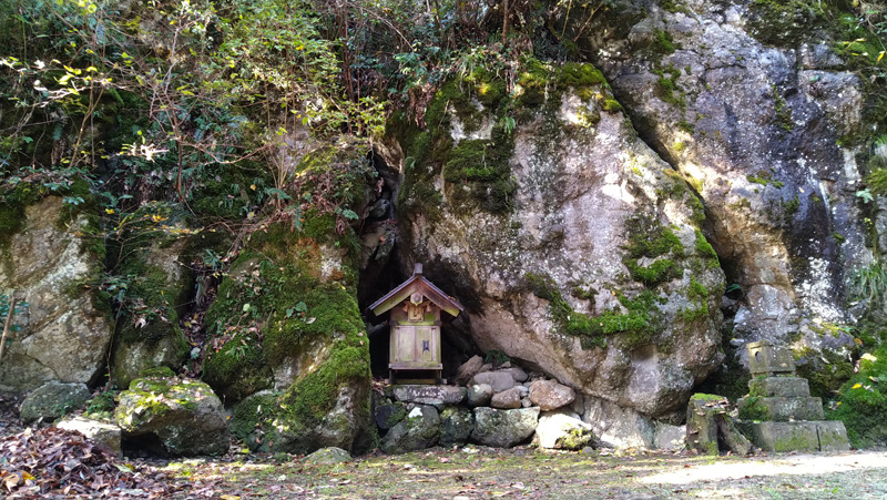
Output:
[[539,408],[497,410],[475,408],[471,440],[485,446],[510,448],[528,440],[539,424]]

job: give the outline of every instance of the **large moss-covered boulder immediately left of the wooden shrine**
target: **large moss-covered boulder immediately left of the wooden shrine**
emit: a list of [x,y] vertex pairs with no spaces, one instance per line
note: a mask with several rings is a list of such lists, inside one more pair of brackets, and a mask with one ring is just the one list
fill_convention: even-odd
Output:
[[[316,226],[316,228],[315,228]],[[326,227],[322,231],[323,227]],[[206,314],[204,379],[236,401],[233,429],[256,450],[373,445],[369,341],[356,299],[350,233],[306,216],[305,231],[255,233]],[[261,407],[261,408],[259,408]]]

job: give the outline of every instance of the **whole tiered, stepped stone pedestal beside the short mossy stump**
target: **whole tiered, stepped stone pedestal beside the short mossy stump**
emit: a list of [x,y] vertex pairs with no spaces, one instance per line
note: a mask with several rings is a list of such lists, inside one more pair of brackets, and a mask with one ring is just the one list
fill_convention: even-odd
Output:
[[766,451],[843,451],[849,449],[844,422],[825,420],[823,402],[812,397],[807,379],[795,376],[788,349],[767,340],[748,344],[748,396],[737,401],[740,428]]

